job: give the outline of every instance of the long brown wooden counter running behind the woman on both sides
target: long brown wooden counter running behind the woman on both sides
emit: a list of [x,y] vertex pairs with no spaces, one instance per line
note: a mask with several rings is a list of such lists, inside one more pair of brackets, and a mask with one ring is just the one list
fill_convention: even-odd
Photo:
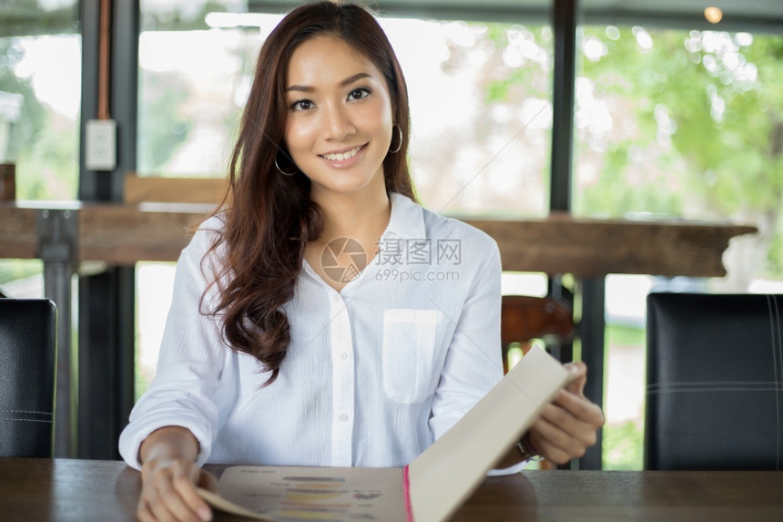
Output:
[[[209,205],[190,203],[79,204],[46,201],[0,203],[0,259],[36,257],[39,210],[78,212],[79,261],[132,265],[176,261],[188,228]],[[731,238],[751,226],[684,220],[596,220],[552,215],[542,219],[465,219],[500,247],[504,271],[722,277],[722,254]]]

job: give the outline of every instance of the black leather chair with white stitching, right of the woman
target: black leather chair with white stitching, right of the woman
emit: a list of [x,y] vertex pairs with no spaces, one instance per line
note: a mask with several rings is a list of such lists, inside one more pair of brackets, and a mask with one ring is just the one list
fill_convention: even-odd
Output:
[[780,470],[783,295],[647,296],[645,468]]

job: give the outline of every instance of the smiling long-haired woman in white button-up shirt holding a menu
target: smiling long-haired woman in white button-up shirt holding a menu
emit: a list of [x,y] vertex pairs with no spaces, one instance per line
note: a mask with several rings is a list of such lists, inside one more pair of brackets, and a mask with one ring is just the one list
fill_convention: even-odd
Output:
[[[229,194],[182,252],[158,374],[120,438],[139,518],[209,519],[207,460],[404,466],[501,378],[497,246],[415,202],[408,138],[368,11],[305,5],[269,35]],[[524,437],[554,462],[603,424],[573,368]]]

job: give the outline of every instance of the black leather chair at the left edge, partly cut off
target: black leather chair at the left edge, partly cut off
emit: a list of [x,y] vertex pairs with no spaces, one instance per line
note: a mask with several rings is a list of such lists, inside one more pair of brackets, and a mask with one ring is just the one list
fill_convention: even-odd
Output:
[[0,456],[52,456],[56,332],[54,302],[0,299]]

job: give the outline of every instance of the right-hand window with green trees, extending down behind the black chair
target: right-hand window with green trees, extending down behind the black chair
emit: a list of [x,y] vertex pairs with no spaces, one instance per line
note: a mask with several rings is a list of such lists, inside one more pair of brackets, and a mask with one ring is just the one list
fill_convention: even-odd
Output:
[[783,38],[586,26],[581,51],[574,213],[760,230],[732,241],[726,278],[607,278],[605,467],[640,468],[646,293],[783,287]]

